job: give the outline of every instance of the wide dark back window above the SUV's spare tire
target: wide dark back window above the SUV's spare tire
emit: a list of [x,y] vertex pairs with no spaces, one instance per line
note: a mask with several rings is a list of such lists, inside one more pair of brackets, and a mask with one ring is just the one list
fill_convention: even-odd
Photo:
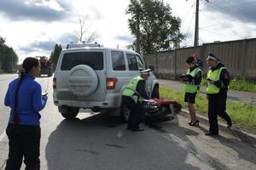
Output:
[[61,71],[69,71],[77,65],[89,65],[93,70],[103,69],[102,52],[76,52],[64,54]]

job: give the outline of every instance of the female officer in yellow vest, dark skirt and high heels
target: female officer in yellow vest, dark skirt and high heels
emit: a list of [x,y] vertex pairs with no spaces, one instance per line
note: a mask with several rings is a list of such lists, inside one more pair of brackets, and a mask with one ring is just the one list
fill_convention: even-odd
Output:
[[195,96],[197,91],[200,88],[202,71],[201,68],[196,66],[196,60],[194,57],[189,57],[186,59],[186,63],[189,69],[186,72],[186,75],[183,76],[184,82],[184,101],[188,103],[189,114],[190,114],[190,126],[199,125],[199,120],[196,117],[195,113]]

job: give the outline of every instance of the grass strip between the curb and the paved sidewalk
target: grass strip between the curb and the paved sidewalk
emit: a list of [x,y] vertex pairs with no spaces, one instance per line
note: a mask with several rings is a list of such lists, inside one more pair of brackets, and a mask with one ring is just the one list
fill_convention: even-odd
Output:
[[[160,88],[161,99],[176,100],[186,108],[187,105],[183,102],[183,91],[172,90],[170,88]],[[196,95],[195,109],[201,115],[207,116],[208,102],[205,96]],[[253,102],[253,101],[252,101]],[[241,102],[228,101],[227,113],[230,115],[232,122],[236,127],[256,133],[256,107],[252,104]]]

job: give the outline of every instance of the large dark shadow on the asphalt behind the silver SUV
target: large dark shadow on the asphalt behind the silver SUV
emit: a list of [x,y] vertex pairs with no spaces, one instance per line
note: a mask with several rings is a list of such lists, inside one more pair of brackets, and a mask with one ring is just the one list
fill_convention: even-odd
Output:
[[189,150],[166,138],[147,127],[127,131],[116,119],[96,115],[63,120],[50,134],[45,156],[49,170],[199,169],[186,162]]

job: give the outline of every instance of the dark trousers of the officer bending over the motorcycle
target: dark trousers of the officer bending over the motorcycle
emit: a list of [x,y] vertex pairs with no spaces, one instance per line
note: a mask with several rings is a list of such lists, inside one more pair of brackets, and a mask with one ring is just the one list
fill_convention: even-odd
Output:
[[130,110],[127,128],[138,128],[144,119],[144,109],[142,104],[137,104],[131,97],[123,96],[124,105]]

